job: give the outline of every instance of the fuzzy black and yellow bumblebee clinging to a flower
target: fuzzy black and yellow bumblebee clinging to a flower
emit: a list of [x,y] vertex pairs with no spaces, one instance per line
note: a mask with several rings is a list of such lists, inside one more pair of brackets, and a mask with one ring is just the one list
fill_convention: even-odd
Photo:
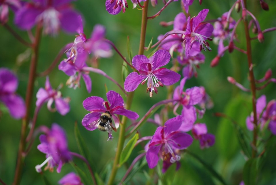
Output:
[[98,119],[88,125],[89,128],[98,128],[101,131],[108,132],[108,139],[111,139],[112,130],[117,131],[115,127],[112,127],[112,115],[109,111],[106,111],[100,115]]

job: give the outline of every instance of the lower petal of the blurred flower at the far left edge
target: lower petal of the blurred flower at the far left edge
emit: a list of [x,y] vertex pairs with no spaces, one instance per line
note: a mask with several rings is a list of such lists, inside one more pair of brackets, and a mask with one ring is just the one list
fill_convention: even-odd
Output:
[[9,113],[15,119],[20,119],[26,114],[26,106],[23,98],[16,94],[1,95],[0,101],[2,101],[7,108]]

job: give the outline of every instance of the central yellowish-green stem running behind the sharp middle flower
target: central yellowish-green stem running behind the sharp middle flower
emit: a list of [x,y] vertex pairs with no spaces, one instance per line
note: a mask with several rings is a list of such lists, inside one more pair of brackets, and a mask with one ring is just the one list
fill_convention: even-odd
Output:
[[[141,23],[141,35],[140,35],[140,44],[139,44],[139,55],[144,54],[144,46],[145,46],[145,35],[146,35],[146,28],[147,28],[147,8],[148,8],[149,1],[144,2],[144,8],[142,12],[142,23]],[[131,108],[132,100],[134,96],[134,91],[129,93],[129,96],[127,97],[127,104],[126,109]],[[125,141],[125,129],[127,124],[127,117],[122,117],[122,124],[120,124],[120,133],[119,133],[119,139],[118,139],[118,146],[117,151],[115,154],[115,159],[112,167],[112,171],[110,174],[110,178],[108,180],[108,185],[112,185],[118,170],[118,164],[120,160],[120,155],[124,146]]]

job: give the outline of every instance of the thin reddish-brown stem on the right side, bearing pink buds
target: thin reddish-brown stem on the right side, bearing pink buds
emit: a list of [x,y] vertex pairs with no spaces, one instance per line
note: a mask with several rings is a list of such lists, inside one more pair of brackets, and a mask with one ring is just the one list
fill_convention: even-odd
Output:
[[[244,5],[246,7],[246,1],[243,0]],[[252,106],[253,106],[253,113],[254,113],[254,130],[253,130],[253,142],[252,142],[252,157],[256,157],[256,143],[257,143],[257,136],[258,136],[258,127],[257,127],[257,111],[256,111],[256,84],[255,84],[255,77],[253,73],[253,63],[252,63],[252,50],[251,50],[251,41],[250,35],[248,30],[248,21],[243,20],[244,22],[244,30],[246,35],[246,48],[247,48],[247,60],[248,60],[248,68],[249,68],[249,80],[250,80],[250,89],[252,92]]]

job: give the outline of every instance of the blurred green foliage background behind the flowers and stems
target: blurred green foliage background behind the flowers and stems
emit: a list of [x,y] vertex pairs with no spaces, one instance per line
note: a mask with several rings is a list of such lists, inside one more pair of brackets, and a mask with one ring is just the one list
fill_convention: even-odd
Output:
[[[270,28],[276,25],[276,2],[272,0],[267,0],[266,2],[269,4],[268,12],[261,9],[258,1],[248,2],[248,9],[257,17],[261,29]],[[128,1],[128,3],[129,8],[126,13],[120,13],[116,16],[108,14],[105,10],[105,1],[103,0],[82,0],[76,1],[73,4],[75,9],[81,12],[85,20],[84,32],[87,37],[90,36],[95,24],[102,24],[106,26],[106,38],[111,40],[124,56],[127,56],[126,43],[127,36],[129,36],[134,56],[138,52],[142,12],[137,9],[132,9],[132,3],[130,1]],[[216,19],[224,12],[227,12],[233,3],[234,1],[204,0],[202,5],[199,5],[198,1],[195,1],[193,5],[190,6],[189,13],[191,16],[194,16],[197,15],[200,10],[208,8],[210,11],[207,20]],[[162,8],[162,6],[163,4],[161,1],[158,2],[156,7],[149,5],[149,15],[154,15]],[[160,16],[153,20],[148,20],[146,45],[150,42],[152,37],[153,42],[155,43],[158,35],[164,34],[172,29],[172,26],[166,28],[161,27],[159,25],[160,21],[172,21],[181,11],[180,2],[173,2]],[[233,11],[232,17],[237,20],[240,17],[240,14],[241,13],[237,14]],[[9,17],[8,24],[11,25],[23,38],[28,40],[27,34],[22,30],[18,30],[13,25],[12,14]],[[17,73],[19,79],[17,92],[22,97],[25,97],[30,62],[29,59],[20,62],[17,58],[20,54],[26,52],[26,47],[19,43],[3,26],[0,26],[0,33],[0,66],[12,69]],[[235,42],[235,45],[246,50],[243,24],[240,24],[237,28],[237,37],[239,41]],[[37,71],[42,72],[48,68],[60,49],[67,43],[73,42],[74,38],[74,35],[67,35],[63,32],[60,32],[56,37],[44,35],[39,48],[39,63]],[[272,69],[273,77],[276,77],[276,33],[265,33],[264,38],[264,43],[259,43],[258,40],[252,41],[252,55],[255,64],[254,74],[256,79],[262,78],[268,68]],[[246,162],[245,156],[241,152],[236,133],[233,129],[233,124],[228,120],[215,117],[214,112],[224,112],[235,119],[235,121],[246,130],[245,119],[252,111],[250,94],[242,92],[237,89],[237,87],[229,84],[227,76],[232,76],[245,87],[249,87],[247,58],[245,54],[237,51],[234,51],[232,54],[226,52],[221,58],[219,65],[215,68],[210,68],[210,62],[217,54],[217,45],[210,43],[210,46],[212,52],[204,52],[206,60],[204,64],[200,65],[198,78],[193,77],[188,80],[185,88],[202,85],[206,88],[206,92],[212,98],[214,107],[207,110],[203,119],[198,119],[197,122],[207,124],[208,132],[215,134],[216,136],[216,143],[211,148],[201,150],[198,141],[195,140],[192,146],[189,147],[189,150],[204,159],[206,163],[211,164],[212,167],[223,176],[226,182],[229,184],[239,184],[242,180],[242,170],[244,163]],[[145,52],[145,55],[150,52],[151,51]],[[104,70],[110,77],[123,85],[121,76],[122,59],[117,53],[114,52],[114,55],[109,59],[100,59],[98,65],[100,69]],[[168,64],[167,67],[169,68],[171,65]],[[111,81],[98,74],[90,73],[90,77],[92,79],[91,94],[87,93],[83,80],[81,80],[81,88],[76,90],[70,89],[65,86],[68,76],[62,71],[59,71],[56,66],[49,74],[50,82],[53,88],[56,88],[60,83],[64,84],[61,92],[64,97],[69,96],[71,98],[71,109],[66,116],[61,116],[57,112],[49,112],[46,105],[44,105],[39,112],[37,126],[47,125],[50,127],[52,123],[58,123],[66,130],[69,149],[73,152],[78,152],[76,139],[74,137],[74,122],[76,121],[81,134],[87,143],[89,152],[91,153],[93,161],[91,165],[93,171],[99,173],[104,182],[106,182],[106,173],[104,173],[104,171],[106,168],[111,169],[115,156],[118,132],[113,134],[113,141],[107,142],[106,133],[98,130],[87,131],[83,128],[81,120],[88,111],[83,108],[82,102],[89,96],[100,96],[106,100],[105,84],[108,90],[114,90],[120,94],[122,94],[122,92],[118,87],[112,84]],[[34,95],[40,87],[44,87],[44,83],[45,77],[37,78],[35,81]],[[179,85],[179,83],[175,84],[175,86],[176,85]],[[265,89],[258,91],[257,96],[259,97],[262,94],[265,94],[268,102],[275,98],[275,89],[275,84],[270,84]],[[166,93],[167,89],[165,87],[159,88],[158,95],[154,94],[154,96],[150,98],[149,94],[145,93],[145,86],[139,86],[135,92],[131,110],[137,112],[141,118],[153,104],[160,100],[164,100],[166,98]],[[123,96],[123,98],[126,100],[125,96]],[[36,98],[33,96],[31,114],[33,114],[35,108],[35,101]],[[0,119],[0,179],[7,184],[11,184],[14,178],[21,121],[12,119],[5,111],[3,105],[1,105],[1,110],[3,110],[3,115],[1,115]],[[150,123],[145,123],[140,130],[141,136],[153,135],[155,129],[156,126]],[[252,133],[248,131],[248,134],[252,137]],[[264,138],[267,138],[267,135],[268,134],[265,134]],[[275,137],[273,139],[275,141]],[[45,155],[39,152],[36,148],[38,144],[39,140],[37,137],[30,153],[26,157],[21,184],[44,183],[42,175],[37,173],[34,169],[37,164],[41,164],[45,160]],[[128,165],[131,164],[141,150],[143,150],[141,146],[138,146],[133,150],[131,157],[128,160]],[[258,184],[276,184],[275,154],[276,149],[274,142],[271,150],[267,152],[263,167],[260,168]],[[83,164],[81,161],[76,159],[74,162],[82,168]],[[173,165],[171,169],[174,170],[175,166]],[[73,171],[72,166],[70,164],[65,164],[59,174],[55,171],[53,173],[45,171],[44,174],[52,184],[57,184],[57,181],[70,171]],[[126,168],[123,166],[118,171],[116,179],[121,179],[125,171]],[[145,173],[147,173],[147,171],[148,168],[147,165],[145,165],[145,167],[143,167],[142,170],[137,172],[133,177],[133,184],[144,184],[147,180],[147,178],[145,178]],[[212,178],[211,174],[197,160],[186,154],[182,155],[180,170],[174,175],[170,175],[168,178],[171,179],[170,181],[172,184],[220,184],[217,180]],[[116,181],[116,184],[117,182],[118,181]]]

